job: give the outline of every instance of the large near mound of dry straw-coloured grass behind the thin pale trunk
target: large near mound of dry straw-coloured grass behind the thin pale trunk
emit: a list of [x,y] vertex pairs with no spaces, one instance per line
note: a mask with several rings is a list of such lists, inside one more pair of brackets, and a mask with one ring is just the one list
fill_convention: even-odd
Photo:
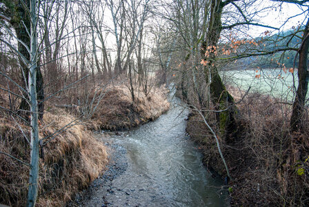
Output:
[[[40,137],[51,135],[74,117],[63,110],[46,112]],[[29,137],[29,128],[22,126]],[[0,119],[0,150],[29,163],[30,148],[17,124]],[[75,125],[43,147],[40,159],[37,206],[63,206],[98,177],[107,163],[106,148],[83,125]],[[0,204],[25,206],[28,166],[0,155]]]

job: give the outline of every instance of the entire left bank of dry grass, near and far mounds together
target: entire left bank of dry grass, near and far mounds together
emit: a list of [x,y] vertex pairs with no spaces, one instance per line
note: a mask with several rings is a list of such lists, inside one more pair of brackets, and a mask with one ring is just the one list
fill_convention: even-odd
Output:
[[[60,132],[44,146],[43,157],[40,158],[37,206],[63,206],[106,170],[106,179],[112,179],[120,168],[125,170],[126,161],[117,161],[123,160],[121,154],[125,152],[97,139],[94,132],[128,129],[157,119],[169,108],[166,93],[163,87],[154,88],[148,96],[136,90],[136,98],[132,103],[126,86],[110,87],[92,119],[79,121],[63,131],[63,126],[78,119],[79,110],[57,108],[56,104],[49,102],[46,107],[48,111],[40,124],[40,137]],[[1,106],[8,105],[6,95],[0,95],[0,101]],[[6,112],[1,114],[0,151],[29,162],[30,147],[24,136],[30,137],[30,128],[17,121]],[[117,150],[113,150],[115,148]],[[25,206],[27,184],[28,167],[0,154],[0,204]]]

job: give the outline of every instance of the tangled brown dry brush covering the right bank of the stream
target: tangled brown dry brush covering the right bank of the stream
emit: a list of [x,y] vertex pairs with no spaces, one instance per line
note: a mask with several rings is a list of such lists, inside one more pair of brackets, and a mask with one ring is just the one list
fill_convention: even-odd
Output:
[[[240,99],[240,94],[237,92],[235,97]],[[309,156],[309,130],[291,134],[290,106],[277,104],[267,96],[250,94],[237,107],[237,140],[229,145],[221,140],[234,179],[229,185],[232,205],[308,206],[309,164],[305,160]],[[210,120],[216,128],[215,120]],[[308,129],[308,118],[305,121]],[[198,115],[190,117],[187,130],[203,148],[206,165],[225,177],[215,139]],[[301,167],[305,172],[298,175]]]

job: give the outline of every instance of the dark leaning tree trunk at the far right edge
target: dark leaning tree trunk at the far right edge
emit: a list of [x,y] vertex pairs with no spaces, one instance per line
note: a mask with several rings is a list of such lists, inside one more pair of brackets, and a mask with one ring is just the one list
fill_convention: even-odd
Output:
[[295,101],[292,108],[290,129],[292,132],[303,130],[303,115],[306,95],[308,91],[308,48],[309,48],[309,19],[303,32],[301,47],[299,48],[298,80],[299,85],[296,92]]

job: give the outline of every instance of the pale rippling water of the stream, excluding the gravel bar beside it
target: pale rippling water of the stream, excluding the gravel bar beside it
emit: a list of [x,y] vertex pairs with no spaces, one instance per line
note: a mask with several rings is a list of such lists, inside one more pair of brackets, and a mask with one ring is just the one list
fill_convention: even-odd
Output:
[[197,146],[188,140],[187,115],[171,104],[156,121],[114,139],[127,148],[132,170],[147,177],[167,206],[226,206],[222,182],[211,177]]

